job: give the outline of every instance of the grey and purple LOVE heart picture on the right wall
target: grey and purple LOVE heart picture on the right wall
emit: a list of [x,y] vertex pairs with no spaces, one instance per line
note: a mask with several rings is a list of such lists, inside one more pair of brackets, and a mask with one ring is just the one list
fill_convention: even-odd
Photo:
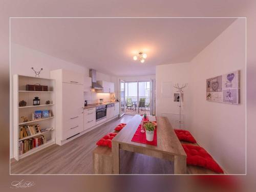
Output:
[[240,70],[206,79],[206,100],[240,104]]

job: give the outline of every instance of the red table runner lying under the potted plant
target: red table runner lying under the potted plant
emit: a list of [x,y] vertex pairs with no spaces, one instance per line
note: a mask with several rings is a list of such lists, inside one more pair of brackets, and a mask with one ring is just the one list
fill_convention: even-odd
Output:
[[[148,121],[148,119],[144,120],[144,118],[143,118],[143,121]],[[144,143],[144,144],[157,146],[157,128],[155,129],[155,132],[154,132],[153,141],[147,141],[146,140],[146,133],[141,133],[140,129],[141,129],[141,125],[138,126],[138,129],[136,130],[136,132],[135,132],[135,134],[132,138],[132,141],[137,142],[137,143]]]

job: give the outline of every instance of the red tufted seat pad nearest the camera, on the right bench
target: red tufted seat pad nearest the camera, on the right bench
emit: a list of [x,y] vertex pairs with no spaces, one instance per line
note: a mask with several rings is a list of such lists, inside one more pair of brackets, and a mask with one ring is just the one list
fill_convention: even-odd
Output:
[[216,173],[224,173],[222,168],[201,146],[182,144],[187,154],[187,164],[208,168]]

